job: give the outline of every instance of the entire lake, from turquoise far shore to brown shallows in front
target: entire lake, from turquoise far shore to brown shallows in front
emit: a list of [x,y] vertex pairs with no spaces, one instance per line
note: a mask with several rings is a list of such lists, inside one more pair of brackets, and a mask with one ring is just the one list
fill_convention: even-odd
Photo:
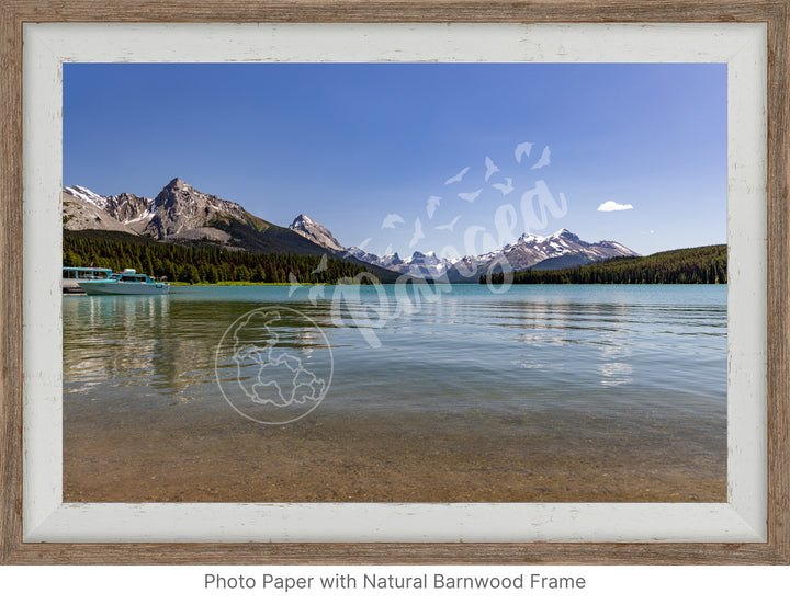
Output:
[[726,286],[65,296],[67,501],[724,501]]

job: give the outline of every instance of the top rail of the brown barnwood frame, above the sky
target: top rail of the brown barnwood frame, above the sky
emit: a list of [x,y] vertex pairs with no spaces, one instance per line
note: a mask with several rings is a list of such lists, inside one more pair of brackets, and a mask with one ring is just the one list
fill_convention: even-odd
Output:
[[29,22],[759,22],[786,0],[4,0]]

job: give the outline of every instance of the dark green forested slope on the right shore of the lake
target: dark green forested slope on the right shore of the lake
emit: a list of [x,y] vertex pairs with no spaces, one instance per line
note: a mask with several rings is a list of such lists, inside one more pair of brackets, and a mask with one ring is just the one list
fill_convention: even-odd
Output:
[[[726,284],[726,246],[706,246],[619,256],[573,269],[519,271],[515,284]],[[505,281],[504,273],[483,275],[481,283]]]

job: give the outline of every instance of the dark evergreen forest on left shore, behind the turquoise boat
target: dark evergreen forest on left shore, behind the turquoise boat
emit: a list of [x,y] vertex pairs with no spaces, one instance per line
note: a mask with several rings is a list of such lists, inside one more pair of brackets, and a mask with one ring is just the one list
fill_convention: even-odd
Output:
[[[145,241],[134,236],[95,237],[65,231],[64,266],[102,266],[114,271],[136,269],[154,277],[189,284],[218,282],[287,283],[293,275],[300,283],[336,283],[356,277],[369,267],[327,256],[256,254],[215,246],[180,246]],[[362,283],[369,283],[366,277]]]

